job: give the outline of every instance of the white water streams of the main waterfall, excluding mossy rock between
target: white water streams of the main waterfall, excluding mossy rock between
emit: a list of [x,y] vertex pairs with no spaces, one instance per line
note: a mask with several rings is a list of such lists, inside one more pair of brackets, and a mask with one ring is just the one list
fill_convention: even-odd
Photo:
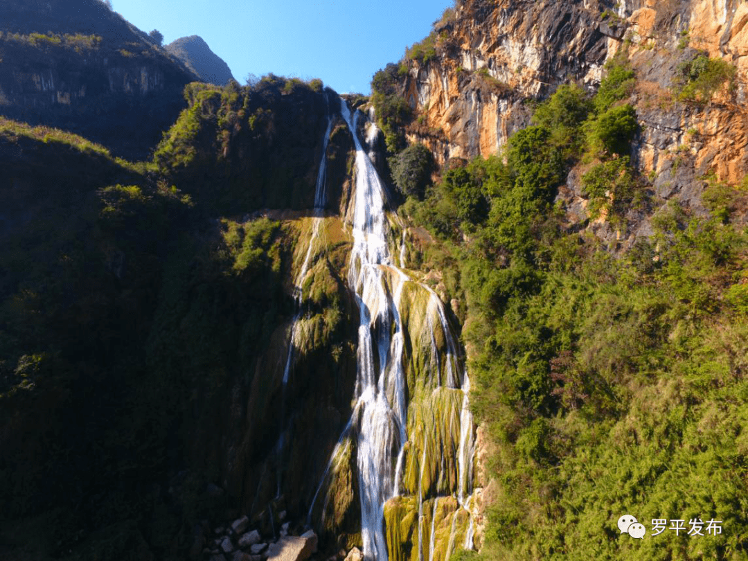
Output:
[[[387,561],[387,545],[384,538],[384,503],[401,492],[401,472],[407,436],[408,384],[405,380],[403,353],[406,334],[401,324],[403,288],[407,283],[416,283],[402,269],[395,266],[390,256],[388,240],[390,227],[385,214],[385,190],[370,157],[358,138],[357,126],[360,113],[352,116],[343,99],[340,99],[340,113],[352,132],[355,144],[355,199],[353,208],[353,248],[349,266],[349,287],[355,295],[360,323],[358,326],[357,376],[355,385],[355,406],[351,420],[340,436],[333,456],[322,476],[322,481],[314,494],[309,511],[312,509],[325,479],[336,462],[346,439],[355,438],[358,490],[361,499],[361,538],[364,545],[364,560]],[[368,123],[367,147],[372,147],[377,129]],[[329,134],[329,133],[328,133]],[[318,181],[319,184],[319,181]],[[319,185],[318,185],[319,188]],[[399,265],[404,257],[403,236]],[[311,243],[311,242],[310,242]],[[393,244],[394,245],[394,244]],[[310,246],[311,247],[311,246]],[[311,250],[310,250],[311,251]],[[303,268],[302,268],[303,271]],[[468,408],[467,391],[470,382],[467,373],[459,379],[458,349],[444,313],[444,306],[435,292],[428,286],[417,283],[419,289],[429,292],[426,303],[430,335],[429,385],[440,387],[444,379],[448,388],[462,389],[462,410],[459,415],[460,442],[459,457],[456,459],[459,470],[459,488],[453,490],[462,508],[467,509],[466,494],[470,495],[473,462],[473,419]],[[438,325],[432,325],[437,324]],[[441,330],[446,342],[444,364],[439,364],[439,351],[435,330]],[[427,344],[427,347],[429,345]],[[289,351],[290,352],[290,351]],[[444,375],[442,375],[444,373]],[[284,375],[285,378],[285,375]],[[429,419],[436,419],[429,412]],[[450,417],[451,418],[451,417]],[[450,421],[451,422],[451,421]],[[438,433],[432,425],[431,432]],[[423,556],[423,473],[426,465],[426,447],[436,446],[435,434],[423,436],[423,456],[420,462],[418,483],[418,539],[417,545]],[[436,448],[434,448],[436,450]],[[444,454],[442,448],[441,453]],[[444,457],[440,469],[444,470]],[[328,494],[329,498],[329,494]],[[468,499],[469,500],[469,499]],[[432,523],[429,536],[429,561],[433,561],[435,549],[435,517],[437,498],[434,497]],[[327,500],[325,500],[325,503]],[[325,516],[322,510],[322,517]],[[470,512],[468,510],[468,512]],[[453,522],[456,513],[453,515]],[[472,519],[470,521],[472,527]],[[450,542],[454,540],[454,527]],[[466,545],[468,545],[466,539]],[[470,539],[469,546],[472,546]],[[450,545],[451,549],[451,545]],[[450,551],[447,551],[447,556]]]

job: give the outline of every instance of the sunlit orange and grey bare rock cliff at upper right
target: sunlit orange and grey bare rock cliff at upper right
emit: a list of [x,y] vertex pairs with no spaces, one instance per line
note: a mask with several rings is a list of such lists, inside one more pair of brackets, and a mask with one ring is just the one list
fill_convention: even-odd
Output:
[[[530,123],[528,101],[568,82],[593,91],[606,61],[623,52],[637,77],[629,102],[640,133],[631,156],[651,180],[652,209],[675,197],[702,212],[699,178],[714,171],[738,183],[748,165],[747,22],[748,5],[730,0],[459,2],[435,25],[435,57],[406,62],[401,93],[421,116],[408,139],[426,144],[440,164],[496,153]],[[711,101],[680,101],[678,67],[700,54],[734,65],[734,85]],[[572,171],[560,190],[573,224],[586,220],[579,177]],[[651,233],[643,216],[631,218],[625,231],[589,227],[613,245]]]

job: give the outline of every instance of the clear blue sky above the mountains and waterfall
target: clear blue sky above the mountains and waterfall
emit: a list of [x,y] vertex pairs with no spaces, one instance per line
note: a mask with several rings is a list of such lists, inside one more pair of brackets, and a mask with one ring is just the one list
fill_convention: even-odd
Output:
[[200,35],[240,84],[248,73],[320,78],[338,93],[370,92],[373,73],[423,39],[453,0],[112,0],[164,44]]

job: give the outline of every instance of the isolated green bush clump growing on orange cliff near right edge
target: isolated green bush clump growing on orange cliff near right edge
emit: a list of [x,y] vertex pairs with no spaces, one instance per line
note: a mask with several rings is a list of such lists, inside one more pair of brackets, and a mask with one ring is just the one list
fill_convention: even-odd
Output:
[[714,93],[731,85],[737,69],[721,58],[699,55],[678,64],[675,91],[681,101],[708,103]]

